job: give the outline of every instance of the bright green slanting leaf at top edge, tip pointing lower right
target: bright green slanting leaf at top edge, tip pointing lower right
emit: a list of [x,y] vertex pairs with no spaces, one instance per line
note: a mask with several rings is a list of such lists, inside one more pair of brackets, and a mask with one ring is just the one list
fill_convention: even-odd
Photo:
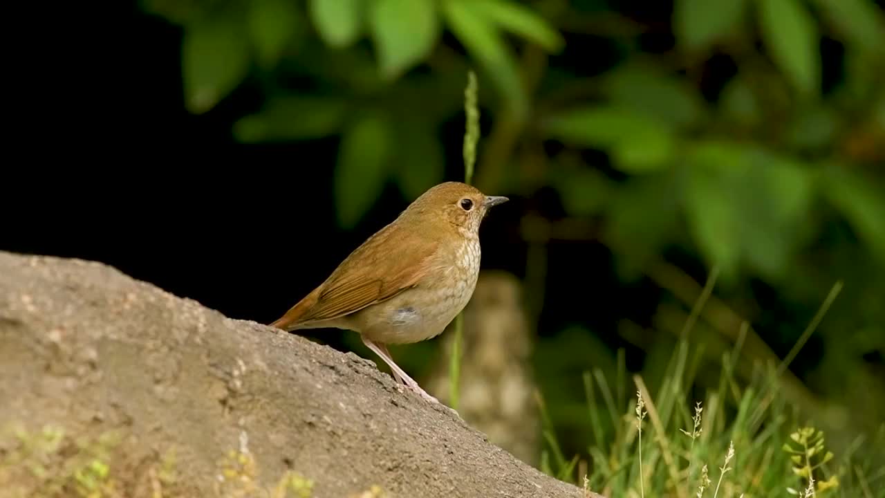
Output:
[[473,5],[473,12],[494,22],[498,27],[520,35],[544,50],[558,52],[566,40],[550,26],[546,19],[526,6],[509,0],[481,0]]

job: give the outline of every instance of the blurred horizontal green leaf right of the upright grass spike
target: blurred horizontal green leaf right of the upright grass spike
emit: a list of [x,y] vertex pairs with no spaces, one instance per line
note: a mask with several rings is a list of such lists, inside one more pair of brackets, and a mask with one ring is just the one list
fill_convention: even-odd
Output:
[[544,128],[567,144],[610,152],[615,166],[628,173],[666,167],[675,152],[666,123],[627,105],[578,107],[550,118]]

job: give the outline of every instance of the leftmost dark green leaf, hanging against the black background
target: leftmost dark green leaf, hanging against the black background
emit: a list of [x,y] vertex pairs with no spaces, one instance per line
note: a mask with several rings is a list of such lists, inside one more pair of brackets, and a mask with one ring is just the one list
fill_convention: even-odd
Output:
[[227,97],[249,71],[248,38],[231,15],[190,24],[181,41],[182,84],[191,113],[205,113]]

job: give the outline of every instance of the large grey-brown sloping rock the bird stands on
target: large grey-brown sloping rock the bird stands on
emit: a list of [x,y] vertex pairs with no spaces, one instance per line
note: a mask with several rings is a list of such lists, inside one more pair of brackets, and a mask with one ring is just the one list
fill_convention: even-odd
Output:
[[[0,379],[0,489],[12,496],[50,482],[272,496],[284,476],[311,479],[315,497],[588,495],[373,362],[96,262],[0,253]],[[108,438],[104,454],[73,451]]]

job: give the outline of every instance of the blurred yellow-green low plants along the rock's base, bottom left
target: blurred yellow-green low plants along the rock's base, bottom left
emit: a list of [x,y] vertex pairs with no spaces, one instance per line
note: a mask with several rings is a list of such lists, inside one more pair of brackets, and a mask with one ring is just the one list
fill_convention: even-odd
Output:
[[[182,478],[176,452],[170,448],[154,462],[135,465],[119,451],[118,432],[76,437],[47,425],[29,431],[21,424],[0,434],[0,496],[3,498],[181,498],[193,495]],[[258,464],[245,436],[239,449],[219,460],[213,496],[225,498],[312,498],[314,482],[285,472],[275,486],[258,482]],[[132,489],[147,483],[144,493]],[[380,488],[370,498],[381,498]],[[364,495],[360,495],[362,498]]]

